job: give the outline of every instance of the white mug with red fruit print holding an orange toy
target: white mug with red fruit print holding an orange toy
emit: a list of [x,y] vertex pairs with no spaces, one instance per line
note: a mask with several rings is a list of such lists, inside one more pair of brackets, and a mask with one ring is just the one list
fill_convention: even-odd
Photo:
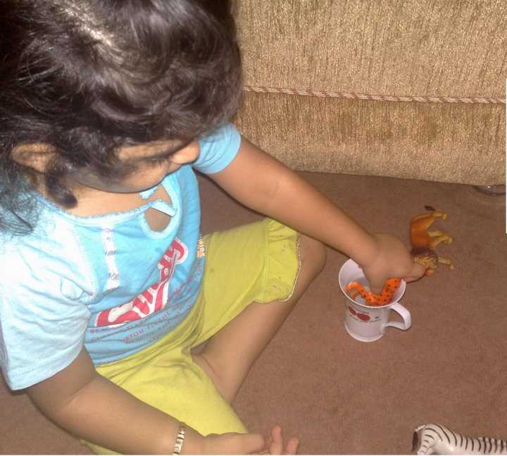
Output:
[[[363,287],[369,286],[363,270],[356,261],[349,259],[344,263],[339,271],[338,282],[345,295],[345,329],[354,339],[361,340],[361,342],[373,342],[380,339],[389,326],[403,331],[412,326],[410,312],[399,304],[399,300],[405,292],[405,281],[401,281],[389,304],[381,307],[368,306],[361,295],[352,299],[351,292],[347,292],[346,288],[351,282],[358,282]],[[392,310],[401,315],[403,322],[389,321]]]

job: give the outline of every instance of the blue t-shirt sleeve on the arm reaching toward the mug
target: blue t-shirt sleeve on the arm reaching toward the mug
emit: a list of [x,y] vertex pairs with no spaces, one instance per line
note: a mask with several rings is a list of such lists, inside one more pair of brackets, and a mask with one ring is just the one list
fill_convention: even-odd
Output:
[[201,152],[193,166],[201,173],[213,174],[227,168],[241,144],[241,135],[232,123],[223,123],[199,140]]

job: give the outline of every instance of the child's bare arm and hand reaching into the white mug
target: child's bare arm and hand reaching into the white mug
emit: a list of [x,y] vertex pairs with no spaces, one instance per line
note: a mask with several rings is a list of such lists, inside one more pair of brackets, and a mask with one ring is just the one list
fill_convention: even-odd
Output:
[[245,138],[232,163],[211,178],[242,204],[354,259],[373,292],[380,292],[389,277],[411,281],[424,273],[424,266],[413,263],[399,240],[368,233],[306,180]]

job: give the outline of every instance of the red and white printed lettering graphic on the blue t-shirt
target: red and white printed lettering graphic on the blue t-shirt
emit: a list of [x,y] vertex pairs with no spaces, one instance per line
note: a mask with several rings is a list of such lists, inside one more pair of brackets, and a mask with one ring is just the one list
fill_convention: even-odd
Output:
[[173,244],[158,263],[160,278],[140,295],[126,304],[107,309],[97,314],[95,327],[108,326],[115,328],[125,323],[143,319],[163,309],[168,303],[168,288],[177,264],[181,264],[188,257],[188,247],[175,238]]

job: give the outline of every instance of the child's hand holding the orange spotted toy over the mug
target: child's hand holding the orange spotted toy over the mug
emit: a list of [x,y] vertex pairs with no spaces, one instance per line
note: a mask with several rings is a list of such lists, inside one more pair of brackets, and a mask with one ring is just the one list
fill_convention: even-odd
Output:
[[370,288],[374,293],[382,292],[385,281],[401,277],[406,282],[418,280],[425,273],[425,266],[414,263],[403,243],[392,235],[375,234],[377,255],[368,264],[361,264]]

